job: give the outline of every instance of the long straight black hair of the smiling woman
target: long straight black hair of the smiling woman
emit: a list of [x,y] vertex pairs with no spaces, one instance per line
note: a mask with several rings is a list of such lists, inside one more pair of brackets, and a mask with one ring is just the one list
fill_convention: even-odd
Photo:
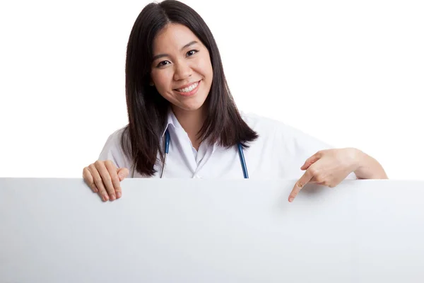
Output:
[[213,81],[206,98],[207,116],[198,136],[201,141],[230,147],[254,141],[258,135],[242,120],[225,79],[215,39],[208,25],[192,8],[176,0],[151,3],[136,18],[126,49],[125,88],[129,125],[122,133],[124,154],[142,175],[154,175],[158,152],[163,161],[161,137],[170,103],[151,86],[153,40],[167,24],[187,26],[206,46],[211,57]]

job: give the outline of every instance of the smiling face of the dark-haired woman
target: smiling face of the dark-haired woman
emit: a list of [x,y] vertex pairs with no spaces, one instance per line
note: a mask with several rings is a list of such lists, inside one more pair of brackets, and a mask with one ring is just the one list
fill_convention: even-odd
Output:
[[185,25],[168,24],[153,42],[151,79],[174,112],[201,110],[213,79],[208,49]]

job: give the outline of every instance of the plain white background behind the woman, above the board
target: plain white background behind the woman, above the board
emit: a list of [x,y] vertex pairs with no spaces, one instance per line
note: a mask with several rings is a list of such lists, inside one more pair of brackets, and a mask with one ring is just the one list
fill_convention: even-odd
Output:
[[[126,43],[149,1],[1,1],[0,177],[81,177],[127,123]],[[423,179],[422,1],[200,1],[240,110]],[[283,158],[283,156],[282,156]]]

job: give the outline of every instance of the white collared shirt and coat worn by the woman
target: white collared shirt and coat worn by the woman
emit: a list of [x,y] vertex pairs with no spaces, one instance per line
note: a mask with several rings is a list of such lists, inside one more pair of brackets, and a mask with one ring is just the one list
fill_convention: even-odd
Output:
[[[242,118],[259,134],[259,138],[244,150],[249,178],[298,179],[305,173],[300,167],[307,158],[317,151],[332,148],[282,122],[245,113],[242,113]],[[99,160],[109,159],[117,168],[129,168],[131,178],[133,163],[124,156],[120,146],[123,129],[110,135]],[[170,132],[170,149],[163,178],[244,178],[237,146],[225,149],[218,145],[208,146],[204,142],[196,151],[172,111],[168,115],[167,129]],[[151,178],[160,178],[162,164],[159,161],[155,170],[157,173]],[[135,171],[134,178],[146,176]],[[355,174],[351,173],[348,179],[356,179]]]

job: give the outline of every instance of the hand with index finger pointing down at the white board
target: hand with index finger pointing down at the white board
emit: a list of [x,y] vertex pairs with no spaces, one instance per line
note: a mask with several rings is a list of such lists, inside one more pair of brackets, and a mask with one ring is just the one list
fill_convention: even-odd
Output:
[[307,183],[318,183],[327,187],[336,187],[350,173],[356,171],[360,165],[358,149],[326,149],[318,151],[307,158],[305,164],[300,168],[306,170],[305,174],[296,182],[293,187],[289,202],[293,202],[298,192]]

